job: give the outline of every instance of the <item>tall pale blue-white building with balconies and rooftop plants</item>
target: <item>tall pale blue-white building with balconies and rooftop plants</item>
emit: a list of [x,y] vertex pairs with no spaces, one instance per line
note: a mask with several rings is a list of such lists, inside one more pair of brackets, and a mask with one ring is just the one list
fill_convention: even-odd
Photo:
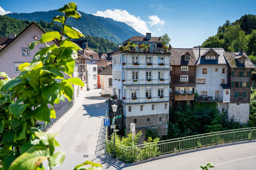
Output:
[[170,53],[161,45],[161,37],[150,33],[134,36],[123,45],[129,42],[138,47],[112,55],[113,95],[122,100],[126,132],[135,123],[136,131],[145,134],[147,129],[157,129],[164,136],[169,121]]

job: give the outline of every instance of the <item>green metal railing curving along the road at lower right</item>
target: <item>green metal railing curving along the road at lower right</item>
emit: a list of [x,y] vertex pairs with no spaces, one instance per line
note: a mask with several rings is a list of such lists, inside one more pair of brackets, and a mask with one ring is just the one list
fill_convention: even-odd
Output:
[[[207,146],[227,145],[227,143],[255,141],[255,139],[256,127],[250,127],[168,139],[129,147],[115,144],[115,156],[124,160],[124,162],[133,162],[167,153],[177,153],[183,150],[193,150]],[[113,154],[113,143],[107,140],[105,149],[106,153]]]

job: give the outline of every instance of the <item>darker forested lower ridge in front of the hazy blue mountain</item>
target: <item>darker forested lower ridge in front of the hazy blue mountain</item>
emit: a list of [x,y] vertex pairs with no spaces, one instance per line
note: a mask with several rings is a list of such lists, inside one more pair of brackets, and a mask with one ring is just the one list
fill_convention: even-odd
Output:
[[[19,34],[25,29],[31,21],[19,20],[11,18],[6,15],[0,15],[0,36],[8,36],[9,34]],[[47,31],[61,31],[61,25],[53,24],[44,21],[36,22],[45,32]],[[104,38],[98,38],[94,36],[84,35],[84,38],[88,40],[88,45],[95,52],[109,52],[118,48],[118,45]]]

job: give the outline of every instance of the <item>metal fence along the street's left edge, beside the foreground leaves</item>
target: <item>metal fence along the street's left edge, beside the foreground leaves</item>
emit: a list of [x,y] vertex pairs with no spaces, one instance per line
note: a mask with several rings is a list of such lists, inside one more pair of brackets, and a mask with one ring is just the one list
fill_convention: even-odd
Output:
[[50,118],[50,122],[48,124],[44,123],[38,127],[42,132],[46,131],[58,118],[60,118],[62,115],[64,115],[70,108],[73,106],[73,101],[70,101],[67,105],[65,105],[61,110],[56,112],[56,118]]

